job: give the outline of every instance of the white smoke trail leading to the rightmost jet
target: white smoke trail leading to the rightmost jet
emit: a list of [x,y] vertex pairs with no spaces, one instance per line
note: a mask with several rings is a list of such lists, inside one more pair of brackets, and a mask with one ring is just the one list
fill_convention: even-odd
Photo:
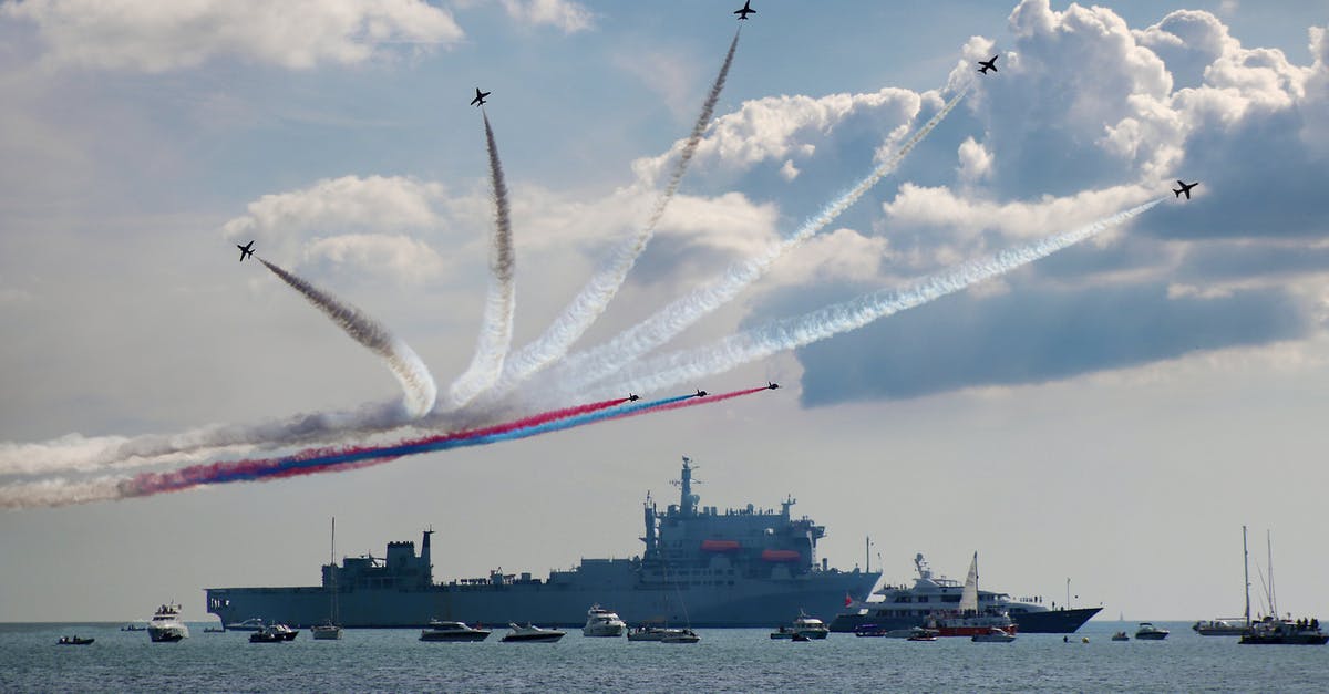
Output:
[[[740,364],[795,350],[832,335],[856,330],[873,320],[954,294],[971,285],[1006,274],[1017,267],[1046,258],[1079,243],[1112,226],[1154,207],[1164,198],[1042,241],[1003,250],[995,255],[969,261],[948,271],[924,278],[904,290],[881,290],[856,299],[827,306],[799,318],[767,323],[724,338],[711,346],[662,355],[631,367],[625,379],[615,380],[614,392],[631,390],[650,392],[679,383],[695,383],[703,376],[722,374]],[[625,383],[626,382],[626,383]],[[606,392],[610,392],[606,388]],[[594,395],[591,395],[594,398]]]

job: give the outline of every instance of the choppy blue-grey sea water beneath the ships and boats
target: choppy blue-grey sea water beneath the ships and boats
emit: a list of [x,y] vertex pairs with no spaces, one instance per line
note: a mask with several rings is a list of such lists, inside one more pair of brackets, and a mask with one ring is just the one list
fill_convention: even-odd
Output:
[[[1326,691],[1329,646],[1241,646],[1188,624],[1162,642],[1110,641],[1135,624],[1090,622],[1070,643],[1023,634],[909,642],[831,634],[772,641],[767,629],[700,629],[700,643],[583,638],[425,643],[409,629],[342,641],[250,643],[245,632],[150,643],[121,625],[0,625],[3,691]],[[96,637],[57,646],[61,636]],[[1080,643],[1088,637],[1088,643]]]

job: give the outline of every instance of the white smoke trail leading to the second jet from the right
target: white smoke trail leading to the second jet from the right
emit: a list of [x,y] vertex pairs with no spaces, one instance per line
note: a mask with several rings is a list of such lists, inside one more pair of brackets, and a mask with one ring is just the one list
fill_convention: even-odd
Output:
[[825,229],[827,225],[857,202],[872,186],[877,185],[890,172],[894,172],[900,166],[900,162],[909,156],[918,142],[928,137],[928,133],[937,128],[937,124],[960,104],[960,100],[968,92],[969,85],[961,88],[893,157],[881,162],[863,181],[859,181],[857,185],[839,198],[828,202],[821,211],[808,218],[792,235],[772,245],[755,258],[748,258],[730,266],[722,278],[694,290],[687,296],[674,300],[657,311],[655,315],[621,332],[613,340],[571,355],[558,366],[554,378],[567,386],[577,386],[610,376],[641,355],[671,340],[711,311],[732,300],[748,285],[756,282],[769,271],[771,266],[784,254],[801,246]]

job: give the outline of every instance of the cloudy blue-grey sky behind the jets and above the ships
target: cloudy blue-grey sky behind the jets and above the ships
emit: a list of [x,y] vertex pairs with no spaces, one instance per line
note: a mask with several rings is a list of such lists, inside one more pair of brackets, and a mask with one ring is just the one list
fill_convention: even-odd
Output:
[[[735,35],[700,0],[0,1],[0,621],[316,585],[334,516],[338,556],[433,528],[436,580],[626,557],[684,455],[703,504],[792,495],[820,556],[890,582],[977,550],[985,589],[1231,616],[1247,525],[1256,609],[1272,554],[1280,609],[1329,614],[1329,3],[754,7]],[[486,390],[646,237],[573,356]],[[358,312],[237,263],[251,239]],[[767,380],[348,472],[65,492]]]

